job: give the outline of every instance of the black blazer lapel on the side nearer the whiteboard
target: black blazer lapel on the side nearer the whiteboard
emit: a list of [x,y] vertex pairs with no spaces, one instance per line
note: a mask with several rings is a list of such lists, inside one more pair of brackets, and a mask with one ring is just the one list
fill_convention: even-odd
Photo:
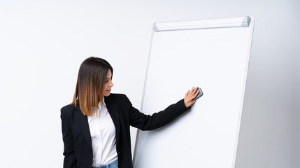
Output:
[[108,113],[113,120],[113,124],[115,125],[115,139],[116,144],[119,144],[120,137],[120,114],[117,104],[113,102],[111,97],[105,97],[104,102],[106,104],[106,108],[108,109]]

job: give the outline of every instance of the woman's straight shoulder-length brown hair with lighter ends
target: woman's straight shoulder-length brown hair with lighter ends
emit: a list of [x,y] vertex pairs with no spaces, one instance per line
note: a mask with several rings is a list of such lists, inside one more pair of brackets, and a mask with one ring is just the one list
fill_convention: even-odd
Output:
[[103,104],[103,85],[109,70],[112,79],[113,67],[105,59],[99,57],[89,57],[80,65],[71,104],[79,105],[84,116],[93,116],[99,102]]

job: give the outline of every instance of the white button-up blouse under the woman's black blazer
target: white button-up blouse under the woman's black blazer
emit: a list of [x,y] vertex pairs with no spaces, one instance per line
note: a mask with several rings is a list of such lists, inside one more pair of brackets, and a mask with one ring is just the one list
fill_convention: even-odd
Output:
[[115,125],[108,113],[106,104],[101,106],[99,102],[96,116],[87,116],[87,120],[92,139],[92,167],[100,167],[116,161]]

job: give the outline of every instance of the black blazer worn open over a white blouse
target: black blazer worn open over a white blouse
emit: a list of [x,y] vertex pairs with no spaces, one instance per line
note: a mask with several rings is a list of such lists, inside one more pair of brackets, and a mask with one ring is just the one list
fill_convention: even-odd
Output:
[[[115,125],[119,168],[133,167],[130,125],[140,130],[155,130],[171,123],[187,111],[183,99],[152,116],[135,109],[124,94],[110,94],[105,97],[105,104]],[[83,116],[79,106],[67,105],[61,109],[61,118],[64,168],[92,167],[92,140],[87,116]]]

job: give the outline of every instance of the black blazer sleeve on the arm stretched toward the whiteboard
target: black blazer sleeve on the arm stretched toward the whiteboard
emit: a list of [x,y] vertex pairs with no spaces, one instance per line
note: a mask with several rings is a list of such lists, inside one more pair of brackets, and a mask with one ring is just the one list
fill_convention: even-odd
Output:
[[159,127],[163,127],[164,125],[168,125],[180,115],[185,113],[188,109],[190,109],[190,107],[186,108],[184,99],[181,99],[176,104],[171,104],[163,111],[153,113],[152,116],[150,116],[141,113],[130,103],[130,125],[140,130],[155,130]]

